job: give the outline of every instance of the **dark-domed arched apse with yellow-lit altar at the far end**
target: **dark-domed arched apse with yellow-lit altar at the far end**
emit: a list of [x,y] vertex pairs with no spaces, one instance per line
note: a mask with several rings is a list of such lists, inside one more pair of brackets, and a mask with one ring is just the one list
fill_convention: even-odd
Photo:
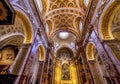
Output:
[[58,49],[55,63],[55,84],[78,84],[74,54],[68,47]]

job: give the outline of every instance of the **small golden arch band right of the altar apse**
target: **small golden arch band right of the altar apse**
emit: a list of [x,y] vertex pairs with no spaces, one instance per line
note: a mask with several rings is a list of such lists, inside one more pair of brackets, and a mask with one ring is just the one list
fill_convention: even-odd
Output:
[[94,43],[90,42],[86,46],[86,55],[88,60],[95,60],[94,50],[95,50]]

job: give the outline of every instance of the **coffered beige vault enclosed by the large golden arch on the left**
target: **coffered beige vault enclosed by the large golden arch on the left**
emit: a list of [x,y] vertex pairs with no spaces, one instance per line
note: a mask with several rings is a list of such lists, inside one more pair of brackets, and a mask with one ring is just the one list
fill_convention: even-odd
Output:
[[[0,26],[0,45],[15,45],[20,47],[24,41],[25,33],[22,24],[18,18],[15,19],[14,25],[2,25]],[[9,37],[9,38],[8,38]],[[14,37],[14,38],[13,38]],[[4,42],[7,40],[6,42]],[[2,44],[4,43],[4,45]]]

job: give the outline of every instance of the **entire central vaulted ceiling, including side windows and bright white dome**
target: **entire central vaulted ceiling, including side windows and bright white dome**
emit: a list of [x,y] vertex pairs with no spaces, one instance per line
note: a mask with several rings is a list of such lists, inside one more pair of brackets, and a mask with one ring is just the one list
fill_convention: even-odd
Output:
[[55,51],[62,47],[74,51],[81,38],[89,0],[35,0],[35,3]]

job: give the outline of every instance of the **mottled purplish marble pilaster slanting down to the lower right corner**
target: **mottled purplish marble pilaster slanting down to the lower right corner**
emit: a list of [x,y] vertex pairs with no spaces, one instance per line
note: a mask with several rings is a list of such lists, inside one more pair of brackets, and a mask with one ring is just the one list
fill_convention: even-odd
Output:
[[104,42],[101,42],[95,31],[93,31],[91,37],[94,40],[94,43],[98,50],[98,54],[105,65],[104,77],[106,78],[106,80],[108,80],[108,82],[118,84],[117,81],[114,79],[118,79],[118,81],[120,81],[120,76],[111,58],[109,57],[107,50],[105,49]]

